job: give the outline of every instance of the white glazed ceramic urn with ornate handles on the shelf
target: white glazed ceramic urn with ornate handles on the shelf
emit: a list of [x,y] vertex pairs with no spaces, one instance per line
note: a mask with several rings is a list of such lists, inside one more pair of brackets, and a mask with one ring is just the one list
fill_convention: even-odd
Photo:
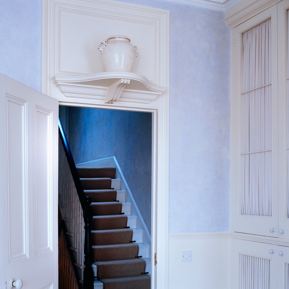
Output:
[[123,35],[113,35],[100,43],[101,64],[104,72],[132,72],[138,53],[137,46],[130,44],[130,39]]

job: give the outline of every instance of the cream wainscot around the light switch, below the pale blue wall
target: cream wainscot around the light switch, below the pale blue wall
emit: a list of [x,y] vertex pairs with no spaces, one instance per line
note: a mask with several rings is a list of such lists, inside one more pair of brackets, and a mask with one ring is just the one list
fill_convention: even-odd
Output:
[[[228,289],[229,234],[169,234],[168,288]],[[192,262],[181,262],[181,251],[192,250]]]

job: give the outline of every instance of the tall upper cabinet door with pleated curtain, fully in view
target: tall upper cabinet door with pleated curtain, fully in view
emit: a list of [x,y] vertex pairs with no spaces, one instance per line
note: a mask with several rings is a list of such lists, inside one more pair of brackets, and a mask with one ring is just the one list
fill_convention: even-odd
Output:
[[277,237],[277,5],[233,30],[231,230]]

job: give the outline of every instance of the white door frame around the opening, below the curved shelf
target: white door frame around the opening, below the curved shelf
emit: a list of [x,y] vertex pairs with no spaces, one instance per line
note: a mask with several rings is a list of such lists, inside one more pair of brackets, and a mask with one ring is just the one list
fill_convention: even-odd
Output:
[[[145,108],[142,105],[120,106],[117,103],[96,104],[84,101],[59,101],[60,106],[100,108],[152,113],[152,206],[151,206],[151,284],[152,288],[168,288],[168,172],[169,172],[169,122],[168,97],[165,108]],[[154,253],[157,253],[158,269],[154,280]],[[156,287],[155,287],[156,286]]]

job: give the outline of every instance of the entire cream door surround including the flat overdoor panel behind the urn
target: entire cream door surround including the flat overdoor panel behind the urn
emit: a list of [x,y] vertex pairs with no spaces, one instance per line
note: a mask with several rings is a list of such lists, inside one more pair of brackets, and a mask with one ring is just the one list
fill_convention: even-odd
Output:
[[[166,289],[169,11],[110,0],[42,0],[42,34],[42,92],[57,99],[60,105],[152,113],[151,283],[152,288]],[[85,83],[81,94],[64,95],[53,83],[53,77],[102,72],[100,54],[95,47],[99,45],[99,41],[115,34],[126,34],[138,45],[141,53],[134,72],[147,77],[156,85],[165,87],[166,92],[147,104],[129,99],[112,104],[104,103],[99,97],[87,94]],[[153,265],[155,252],[157,266]]]

